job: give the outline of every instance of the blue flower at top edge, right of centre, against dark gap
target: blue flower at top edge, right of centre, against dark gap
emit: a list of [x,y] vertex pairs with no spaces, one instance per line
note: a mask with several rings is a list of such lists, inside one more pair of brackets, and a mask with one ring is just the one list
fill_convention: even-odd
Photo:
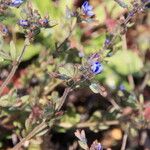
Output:
[[85,1],[83,4],[82,4],[82,10],[83,10],[83,12],[87,15],[87,16],[89,16],[89,17],[91,17],[91,16],[93,16],[94,15],[94,13],[93,13],[93,7],[91,6],[91,5],[89,5],[89,2],[87,2],[87,1]]

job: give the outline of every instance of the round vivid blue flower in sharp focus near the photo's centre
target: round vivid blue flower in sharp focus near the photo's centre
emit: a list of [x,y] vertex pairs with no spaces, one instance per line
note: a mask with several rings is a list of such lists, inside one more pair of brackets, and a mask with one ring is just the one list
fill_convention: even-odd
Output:
[[91,65],[91,71],[93,74],[97,75],[103,71],[103,65],[98,61],[93,62]]

